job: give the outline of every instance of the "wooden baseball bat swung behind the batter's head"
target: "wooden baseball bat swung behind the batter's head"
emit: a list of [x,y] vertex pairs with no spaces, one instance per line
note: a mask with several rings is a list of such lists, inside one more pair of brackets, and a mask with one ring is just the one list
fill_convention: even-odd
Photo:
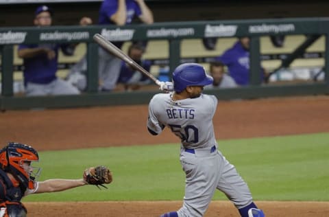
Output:
[[113,45],[110,41],[106,40],[101,34],[95,34],[93,36],[94,41],[96,41],[97,44],[99,44],[103,49],[106,49],[107,52],[110,52],[113,56],[116,56],[117,58],[123,60],[127,63],[127,65],[130,65],[133,69],[136,69],[137,71],[143,73],[145,76],[149,77],[151,80],[153,80],[158,86],[161,86],[160,80],[156,79],[149,71],[146,71],[143,67],[137,64],[132,58],[127,56],[127,54],[123,53],[121,49],[119,49],[117,46]]

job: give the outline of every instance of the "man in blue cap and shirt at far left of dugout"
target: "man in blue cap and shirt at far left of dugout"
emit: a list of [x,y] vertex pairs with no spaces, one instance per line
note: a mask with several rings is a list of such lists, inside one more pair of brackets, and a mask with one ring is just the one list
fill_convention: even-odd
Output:
[[[35,12],[34,25],[38,27],[50,26],[53,12],[46,5],[39,6]],[[80,24],[88,23],[84,17]],[[63,54],[73,55],[75,45],[69,44],[29,44],[19,45],[18,55],[23,58],[23,76],[25,94],[32,95],[75,95],[80,91],[69,82],[57,78],[58,50]]]

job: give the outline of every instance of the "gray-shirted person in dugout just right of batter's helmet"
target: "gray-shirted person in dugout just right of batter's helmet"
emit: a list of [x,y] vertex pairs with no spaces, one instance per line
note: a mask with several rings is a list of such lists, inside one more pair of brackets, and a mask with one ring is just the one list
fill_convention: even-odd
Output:
[[204,89],[238,87],[234,79],[224,71],[224,65],[222,62],[210,62],[209,73],[214,80],[212,84],[205,86]]

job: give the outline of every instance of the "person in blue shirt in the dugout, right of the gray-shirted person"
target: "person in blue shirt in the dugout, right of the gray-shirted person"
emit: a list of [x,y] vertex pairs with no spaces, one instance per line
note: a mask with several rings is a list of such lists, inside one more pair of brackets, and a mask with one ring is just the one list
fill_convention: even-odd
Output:
[[[228,67],[230,76],[240,86],[250,83],[249,43],[250,39],[248,37],[239,38],[239,41],[234,43],[230,49],[215,58],[215,60],[223,62]],[[262,68],[262,80],[263,73],[264,69]]]

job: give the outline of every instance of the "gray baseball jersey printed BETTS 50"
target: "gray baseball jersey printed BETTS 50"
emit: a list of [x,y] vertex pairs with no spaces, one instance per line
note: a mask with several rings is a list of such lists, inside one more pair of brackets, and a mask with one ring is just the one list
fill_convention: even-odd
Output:
[[171,128],[184,148],[211,148],[216,145],[212,129],[216,105],[213,95],[173,102],[170,94],[160,93],[149,104],[148,127],[156,133],[163,125]]

